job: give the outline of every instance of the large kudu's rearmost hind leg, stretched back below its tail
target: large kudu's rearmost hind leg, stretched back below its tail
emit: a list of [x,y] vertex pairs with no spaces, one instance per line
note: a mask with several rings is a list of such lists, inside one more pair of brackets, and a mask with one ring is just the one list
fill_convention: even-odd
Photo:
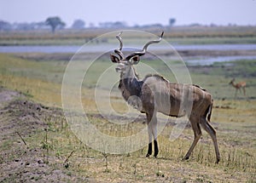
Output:
[[207,121],[207,117],[201,117],[200,123],[201,123],[201,127],[203,129],[205,129],[207,131],[207,133],[210,134],[210,136],[212,138],[215,153],[216,153],[216,162],[215,163],[218,163],[220,160],[220,155],[219,155],[219,151],[218,151],[216,131],[215,131],[215,129],[213,129],[212,125]]

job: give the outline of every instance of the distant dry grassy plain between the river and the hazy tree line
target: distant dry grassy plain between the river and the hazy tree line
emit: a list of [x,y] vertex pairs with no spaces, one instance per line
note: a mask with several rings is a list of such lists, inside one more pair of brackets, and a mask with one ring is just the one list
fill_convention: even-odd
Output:
[[[132,28],[127,28],[131,29]],[[165,31],[164,38],[179,44],[218,44],[218,43],[256,43],[255,26],[174,26],[159,28],[137,28],[159,34]],[[83,45],[92,38],[116,29],[84,29],[81,31],[3,31],[0,32],[0,45]],[[134,37],[134,35],[132,35]],[[140,39],[140,37],[136,37]],[[112,37],[102,40],[113,41]]]

